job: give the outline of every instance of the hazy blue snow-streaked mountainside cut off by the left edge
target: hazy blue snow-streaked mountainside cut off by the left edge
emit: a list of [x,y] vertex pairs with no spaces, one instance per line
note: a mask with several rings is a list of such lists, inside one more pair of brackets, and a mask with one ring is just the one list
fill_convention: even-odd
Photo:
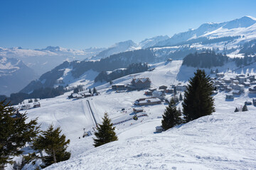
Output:
[[28,68],[21,60],[0,57],[0,94],[18,92],[35,78],[33,69]]

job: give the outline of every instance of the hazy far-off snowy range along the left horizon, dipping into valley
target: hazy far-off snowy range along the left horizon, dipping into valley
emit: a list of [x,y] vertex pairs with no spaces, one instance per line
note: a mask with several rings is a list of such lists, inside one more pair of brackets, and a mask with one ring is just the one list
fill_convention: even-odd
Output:
[[21,47],[4,48],[0,47],[1,57],[12,57],[22,60],[28,67],[35,70],[37,74],[43,74],[53,69],[64,61],[85,60],[88,57],[97,55],[105,50],[104,48],[88,48],[85,50],[73,50],[63,47],[48,46],[44,49],[22,49]]

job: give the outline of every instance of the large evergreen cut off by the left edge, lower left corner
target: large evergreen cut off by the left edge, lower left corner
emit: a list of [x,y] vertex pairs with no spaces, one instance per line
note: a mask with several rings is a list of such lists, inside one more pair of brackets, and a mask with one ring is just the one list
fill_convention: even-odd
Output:
[[22,154],[21,147],[38,134],[37,119],[28,123],[26,120],[26,113],[16,116],[16,110],[9,103],[0,101],[0,169],[14,163],[11,157]]

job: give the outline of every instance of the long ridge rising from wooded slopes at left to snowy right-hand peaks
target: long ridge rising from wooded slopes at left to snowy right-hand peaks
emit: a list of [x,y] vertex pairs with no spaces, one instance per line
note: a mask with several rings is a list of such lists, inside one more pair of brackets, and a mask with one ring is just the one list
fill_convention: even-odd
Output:
[[[178,33],[171,38],[158,36],[143,40],[138,44],[132,40],[119,42],[106,50],[102,50],[98,55],[90,57],[92,60],[87,58],[87,60],[80,62],[60,64],[52,71],[43,74],[38,80],[32,81],[22,92],[28,93],[38,87],[67,86],[74,81],[79,81],[82,77],[86,77],[87,74],[93,74],[93,77],[96,77],[102,71],[128,67],[132,63],[154,64],[169,58],[183,60],[190,53],[202,52],[207,49],[214,50],[216,53],[223,53],[228,57],[243,57],[248,52],[250,55],[255,55],[255,39],[256,19],[245,16],[223,23],[203,23],[197,29]],[[59,50],[63,51],[61,47],[46,47],[41,51]],[[113,54],[116,52],[117,54]],[[93,73],[89,72],[90,70]],[[91,77],[91,79],[94,78]]]

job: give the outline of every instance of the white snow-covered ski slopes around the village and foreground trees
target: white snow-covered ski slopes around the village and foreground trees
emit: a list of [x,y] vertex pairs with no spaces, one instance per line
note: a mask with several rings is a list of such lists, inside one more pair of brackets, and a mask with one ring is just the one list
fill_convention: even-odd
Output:
[[[149,77],[152,87],[186,83],[196,68],[181,66],[181,61],[153,64],[151,72],[143,72],[114,80],[114,83],[127,84],[134,77]],[[225,72],[225,78],[235,74],[256,75],[255,64],[226,72],[232,65],[217,67]],[[234,67],[235,68],[235,67]],[[215,68],[216,69],[216,68]],[[206,69],[210,72],[210,69]],[[245,93],[233,101],[225,100],[225,91],[214,96],[216,111],[198,120],[172,128],[161,134],[154,133],[161,125],[161,115],[167,103],[142,106],[144,113],[139,120],[129,120],[134,113],[134,101],[146,97],[144,90],[117,93],[110,84],[97,86],[99,96],[78,100],[68,99],[70,93],[40,101],[41,108],[27,111],[28,118],[38,117],[41,128],[46,130],[53,123],[60,126],[71,140],[68,149],[70,160],[53,164],[47,169],[255,169],[255,106],[249,111],[234,113],[245,101],[251,101],[256,94]],[[171,96],[168,94],[166,97]],[[94,148],[92,136],[82,137],[83,128],[93,132],[105,112],[109,113],[119,140]],[[181,108],[181,103],[178,103]],[[124,111],[121,111],[124,108]],[[144,114],[141,113],[141,114]],[[139,115],[139,114],[138,114]],[[127,120],[124,123],[120,123]],[[81,137],[79,139],[79,137]]]

